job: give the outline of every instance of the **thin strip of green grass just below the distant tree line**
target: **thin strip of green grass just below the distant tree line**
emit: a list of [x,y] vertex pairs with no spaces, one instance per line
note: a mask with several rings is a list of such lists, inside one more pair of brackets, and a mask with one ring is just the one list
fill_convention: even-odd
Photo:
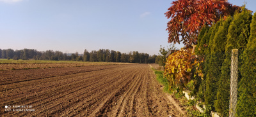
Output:
[[106,63],[106,62],[81,62],[81,61],[56,61],[56,60],[13,60],[0,59],[0,64],[85,64],[85,63]]

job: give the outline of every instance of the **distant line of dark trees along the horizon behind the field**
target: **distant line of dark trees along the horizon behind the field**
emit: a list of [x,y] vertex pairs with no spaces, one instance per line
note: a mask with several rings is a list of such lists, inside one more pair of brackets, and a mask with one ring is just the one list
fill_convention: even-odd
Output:
[[160,55],[148,55],[148,53],[139,53],[138,51],[121,53],[115,50],[100,49],[88,52],[84,50],[83,55],[76,53],[63,53],[59,51],[47,50],[39,52],[34,49],[23,50],[1,50],[0,59],[14,59],[14,60],[72,60],[84,62],[130,62],[130,63],[159,63]]

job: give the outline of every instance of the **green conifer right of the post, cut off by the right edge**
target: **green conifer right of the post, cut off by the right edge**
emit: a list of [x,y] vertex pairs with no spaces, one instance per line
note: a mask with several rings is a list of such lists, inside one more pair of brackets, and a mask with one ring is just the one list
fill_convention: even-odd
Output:
[[250,28],[250,38],[243,53],[243,65],[239,69],[243,78],[239,82],[236,116],[256,116],[256,13]]

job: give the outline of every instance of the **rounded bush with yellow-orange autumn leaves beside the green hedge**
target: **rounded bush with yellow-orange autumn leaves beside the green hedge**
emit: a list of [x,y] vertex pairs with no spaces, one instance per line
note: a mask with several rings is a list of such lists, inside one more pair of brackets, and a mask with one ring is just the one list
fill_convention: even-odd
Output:
[[169,55],[164,76],[169,81],[170,90],[178,88],[181,91],[195,76],[204,77],[200,67],[202,61],[203,59],[192,53],[191,49],[180,48],[177,52]]

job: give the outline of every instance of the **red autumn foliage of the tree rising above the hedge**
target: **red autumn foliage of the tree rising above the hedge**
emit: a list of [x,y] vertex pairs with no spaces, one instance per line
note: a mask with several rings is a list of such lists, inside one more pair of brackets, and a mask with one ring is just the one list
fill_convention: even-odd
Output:
[[[197,35],[203,25],[212,25],[220,17],[233,14],[238,6],[232,6],[227,0],[177,0],[164,13],[172,18],[167,24],[168,43],[180,43],[185,46],[197,44]],[[181,36],[181,39],[180,39]]]

